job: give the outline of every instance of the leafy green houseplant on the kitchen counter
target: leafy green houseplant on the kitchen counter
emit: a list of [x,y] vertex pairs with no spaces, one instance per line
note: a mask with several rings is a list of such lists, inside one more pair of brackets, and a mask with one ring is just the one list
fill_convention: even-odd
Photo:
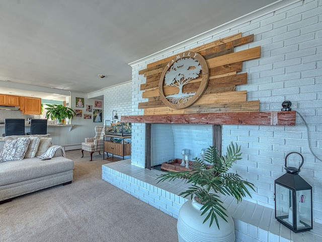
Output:
[[65,118],[72,119],[74,117],[74,110],[70,107],[65,107],[61,104],[46,104],[47,112],[46,118],[50,118],[51,120],[56,120],[57,124],[65,124]]

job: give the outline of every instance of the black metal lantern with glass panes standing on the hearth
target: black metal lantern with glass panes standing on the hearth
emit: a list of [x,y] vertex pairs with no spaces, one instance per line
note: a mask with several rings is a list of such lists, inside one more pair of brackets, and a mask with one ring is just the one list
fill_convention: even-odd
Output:
[[[298,168],[287,166],[290,154],[298,154],[302,162]],[[312,229],[312,187],[298,174],[303,165],[298,152],[285,157],[286,173],[275,180],[275,218],[298,233]]]

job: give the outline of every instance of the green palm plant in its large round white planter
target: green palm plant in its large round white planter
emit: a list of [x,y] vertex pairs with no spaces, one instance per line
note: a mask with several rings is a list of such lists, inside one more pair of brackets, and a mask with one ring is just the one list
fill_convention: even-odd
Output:
[[[254,185],[229,172],[233,162],[241,159],[240,146],[231,143],[223,156],[215,147],[206,149],[204,158],[195,158],[192,171],[169,171],[160,181],[183,179],[190,187],[180,196],[190,197],[179,211],[177,230],[179,241],[234,241],[234,224],[223,207],[221,195],[230,195],[240,202],[251,194]],[[255,190],[254,190],[255,191]],[[215,221],[217,226],[212,226]],[[205,237],[206,236],[206,237]],[[191,240],[192,239],[192,240]]]

